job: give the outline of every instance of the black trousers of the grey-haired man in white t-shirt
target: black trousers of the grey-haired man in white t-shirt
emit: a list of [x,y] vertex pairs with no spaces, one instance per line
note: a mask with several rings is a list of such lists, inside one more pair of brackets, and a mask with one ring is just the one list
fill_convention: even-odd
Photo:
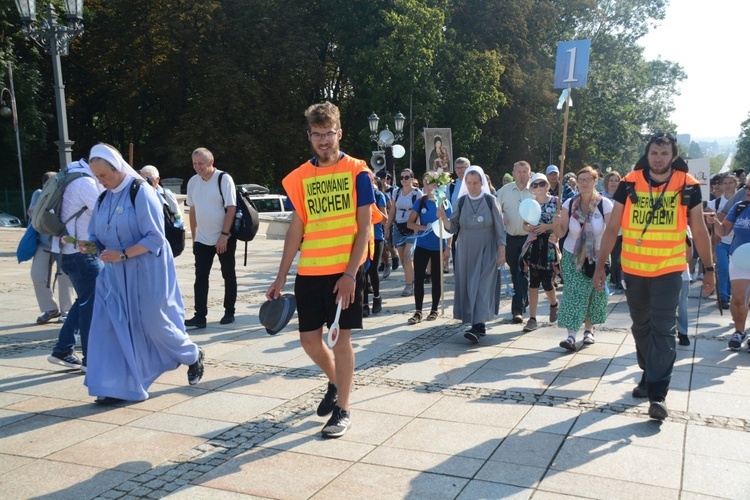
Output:
[[[221,264],[221,277],[224,278],[224,312],[234,314],[234,305],[237,302],[237,274],[235,272],[234,252],[237,249],[237,238],[230,236],[227,241],[227,250],[219,254]],[[214,263],[216,247],[193,242],[193,255],[195,255],[195,317],[206,319],[208,315],[208,277],[211,274],[211,266]]]

